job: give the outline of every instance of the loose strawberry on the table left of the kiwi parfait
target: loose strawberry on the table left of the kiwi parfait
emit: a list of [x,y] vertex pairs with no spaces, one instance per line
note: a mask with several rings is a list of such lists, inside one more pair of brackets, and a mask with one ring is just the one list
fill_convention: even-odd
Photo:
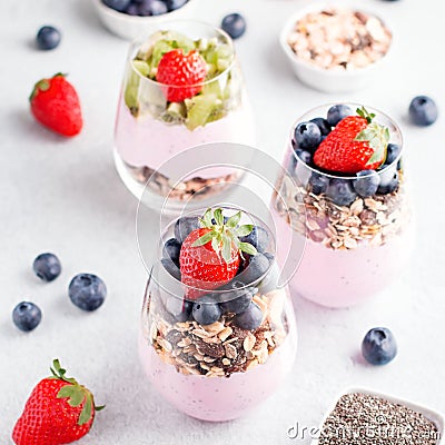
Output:
[[39,80],[29,98],[34,118],[50,130],[76,136],[83,126],[79,97],[65,75]]

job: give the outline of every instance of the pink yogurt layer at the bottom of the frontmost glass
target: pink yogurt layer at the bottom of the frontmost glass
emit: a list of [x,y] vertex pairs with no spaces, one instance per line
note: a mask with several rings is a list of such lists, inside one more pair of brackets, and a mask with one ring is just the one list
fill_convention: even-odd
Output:
[[184,375],[175,366],[164,363],[142,335],[139,357],[144,369],[157,390],[182,413],[202,421],[230,421],[250,411],[271,395],[290,372],[297,350],[295,322],[289,333],[266,363],[230,377]]

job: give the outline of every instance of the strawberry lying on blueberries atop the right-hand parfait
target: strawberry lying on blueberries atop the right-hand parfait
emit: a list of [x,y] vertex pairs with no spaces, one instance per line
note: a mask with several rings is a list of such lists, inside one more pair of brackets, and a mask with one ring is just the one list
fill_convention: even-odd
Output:
[[356,174],[375,170],[386,158],[389,130],[373,122],[375,115],[365,108],[358,116],[340,120],[314,155],[314,162],[325,170]]

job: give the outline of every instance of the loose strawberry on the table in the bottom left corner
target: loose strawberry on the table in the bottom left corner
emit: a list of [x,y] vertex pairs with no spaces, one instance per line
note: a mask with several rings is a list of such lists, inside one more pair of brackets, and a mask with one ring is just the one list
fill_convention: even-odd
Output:
[[78,441],[91,428],[96,406],[92,394],[53,360],[52,376],[33,388],[17,421],[12,439],[16,445],[61,445]]

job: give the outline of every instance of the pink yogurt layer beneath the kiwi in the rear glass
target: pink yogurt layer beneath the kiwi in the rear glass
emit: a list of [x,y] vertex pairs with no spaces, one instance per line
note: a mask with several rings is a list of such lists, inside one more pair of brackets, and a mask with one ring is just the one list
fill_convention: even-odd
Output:
[[[158,170],[175,155],[202,144],[236,142],[255,147],[256,138],[251,109],[247,103],[222,119],[190,131],[185,125],[168,125],[149,115],[135,118],[125,101],[120,100],[115,141],[119,156],[127,164]],[[233,171],[229,167],[206,168],[184,180],[196,176],[217,178]],[[166,166],[160,172],[168,178],[176,176]]]

